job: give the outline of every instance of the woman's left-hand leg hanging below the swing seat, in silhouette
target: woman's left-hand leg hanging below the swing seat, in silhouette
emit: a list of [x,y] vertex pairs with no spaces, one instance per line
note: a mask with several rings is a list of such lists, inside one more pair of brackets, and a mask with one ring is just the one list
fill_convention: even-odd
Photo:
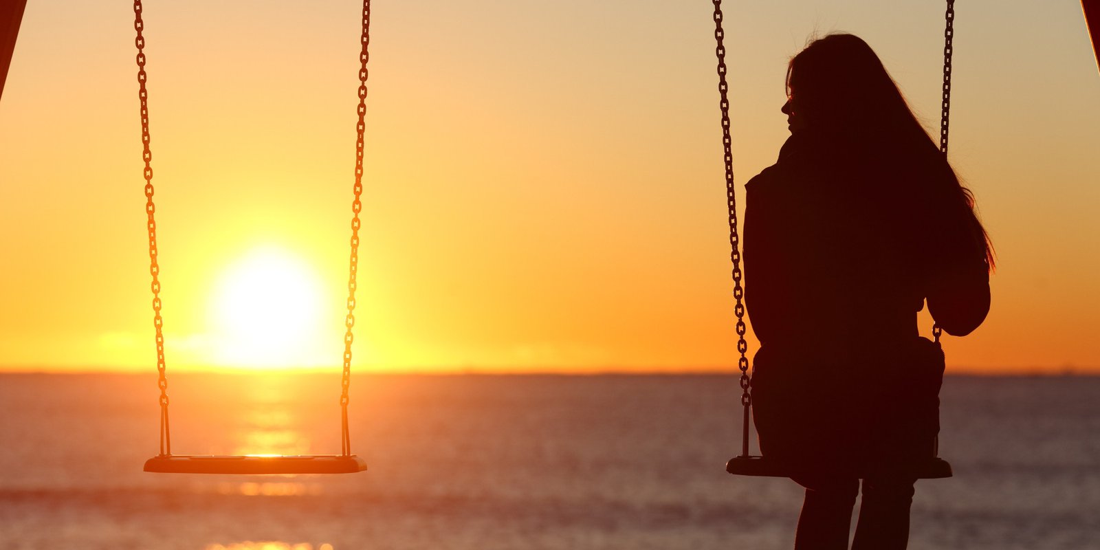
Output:
[[794,550],[848,550],[848,529],[859,480],[800,476],[794,481],[806,487]]

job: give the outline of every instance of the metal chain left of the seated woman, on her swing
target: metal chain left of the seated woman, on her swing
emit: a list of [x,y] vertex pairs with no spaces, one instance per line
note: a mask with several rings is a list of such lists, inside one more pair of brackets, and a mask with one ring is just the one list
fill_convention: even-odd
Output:
[[749,407],[752,404],[752,395],[749,393],[751,381],[749,378],[749,360],[746,356],[748,343],[745,341],[745,292],[741,287],[741,252],[740,238],[737,234],[737,198],[734,187],[734,154],[733,140],[729,136],[729,85],[726,84],[726,46],[723,43],[725,32],[722,29],[722,0],[713,0],[714,3],[714,40],[717,43],[715,55],[718,57],[718,95],[721,97],[719,108],[722,109],[722,146],[726,167],[726,207],[729,220],[729,261],[734,264],[734,315],[737,316],[737,352],[740,356],[737,360],[737,369],[741,372],[741,406],[745,407],[745,430],[741,441],[741,454],[748,454],[748,417]]

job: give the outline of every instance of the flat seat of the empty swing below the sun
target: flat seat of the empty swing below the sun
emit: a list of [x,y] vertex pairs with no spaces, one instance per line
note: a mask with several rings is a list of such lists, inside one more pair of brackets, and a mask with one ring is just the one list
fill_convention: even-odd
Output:
[[366,462],[355,454],[164,454],[145,461],[146,472],[165,474],[350,474],[364,470]]

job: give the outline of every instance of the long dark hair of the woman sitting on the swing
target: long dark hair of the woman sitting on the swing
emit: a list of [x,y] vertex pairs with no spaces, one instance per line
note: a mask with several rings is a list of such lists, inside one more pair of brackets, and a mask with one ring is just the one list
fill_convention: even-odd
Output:
[[959,183],[871,46],[846,33],[814,40],[791,58],[787,92],[795,116],[810,128],[843,142],[872,145],[879,154],[902,161],[894,170],[914,162],[922,166],[926,177],[920,185],[934,186],[930,196],[941,206],[933,219],[953,226],[928,228],[930,233],[955,239],[968,234],[992,268],[993,246],[975,213],[974,195]]

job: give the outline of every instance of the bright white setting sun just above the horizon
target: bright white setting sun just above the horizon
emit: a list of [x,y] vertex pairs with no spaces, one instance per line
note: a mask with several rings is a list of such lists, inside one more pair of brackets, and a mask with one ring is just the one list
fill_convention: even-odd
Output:
[[[320,278],[300,256],[255,248],[226,267],[211,302],[219,366],[294,369],[326,363],[340,338],[323,334],[329,318]],[[331,344],[331,345],[329,345]]]

